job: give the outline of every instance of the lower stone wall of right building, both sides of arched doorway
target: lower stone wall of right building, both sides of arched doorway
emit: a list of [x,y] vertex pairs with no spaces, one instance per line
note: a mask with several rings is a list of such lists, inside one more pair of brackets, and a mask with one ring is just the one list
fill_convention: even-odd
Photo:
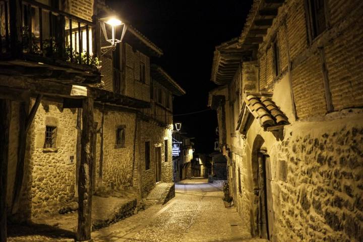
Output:
[[253,147],[260,136],[272,171],[272,241],[363,239],[363,114],[330,118],[287,126],[282,140],[254,121],[246,145],[232,152],[231,193],[240,216],[250,221],[252,234],[258,233]]

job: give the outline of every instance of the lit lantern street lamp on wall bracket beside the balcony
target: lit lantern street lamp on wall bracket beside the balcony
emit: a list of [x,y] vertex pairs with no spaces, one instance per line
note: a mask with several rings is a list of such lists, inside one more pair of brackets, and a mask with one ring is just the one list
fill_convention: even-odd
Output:
[[[109,46],[101,47],[101,52],[102,52],[101,56],[102,56],[110,49],[112,49],[112,50],[116,49],[116,44],[120,43],[124,39],[126,30],[127,30],[127,25],[125,23],[123,23],[121,20],[117,19],[117,17],[115,17],[115,16],[101,18],[100,23],[101,23],[101,29],[102,29],[102,33],[105,37],[105,40],[111,44]],[[105,24],[108,24],[109,26],[111,26],[111,36],[110,36],[111,38],[108,38],[108,36],[107,36]],[[122,30],[120,39],[116,39],[116,27],[117,26],[123,26],[123,30]]]

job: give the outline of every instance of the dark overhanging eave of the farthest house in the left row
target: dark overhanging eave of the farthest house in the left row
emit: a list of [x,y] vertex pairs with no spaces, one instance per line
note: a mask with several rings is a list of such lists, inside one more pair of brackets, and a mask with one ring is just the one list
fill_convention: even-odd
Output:
[[176,96],[186,94],[186,91],[179,86],[161,67],[151,65],[151,77],[158,83],[166,87]]

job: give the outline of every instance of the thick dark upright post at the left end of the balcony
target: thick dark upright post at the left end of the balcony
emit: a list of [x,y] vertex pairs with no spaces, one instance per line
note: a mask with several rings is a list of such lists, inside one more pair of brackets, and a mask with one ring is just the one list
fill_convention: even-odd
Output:
[[22,15],[21,15],[21,1],[13,0],[9,1],[9,13],[10,13],[10,51],[13,57],[19,57],[22,55]]

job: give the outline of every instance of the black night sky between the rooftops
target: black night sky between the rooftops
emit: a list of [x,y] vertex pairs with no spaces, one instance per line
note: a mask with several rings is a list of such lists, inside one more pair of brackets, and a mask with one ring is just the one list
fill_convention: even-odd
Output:
[[[174,1],[106,0],[153,43],[164,55],[159,64],[187,94],[175,97],[174,114],[207,109],[208,92],[216,45],[240,35],[252,0]],[[214,110],[174,116],[182,132],[195,137],[196,152],[213,151],[217,116]]]

